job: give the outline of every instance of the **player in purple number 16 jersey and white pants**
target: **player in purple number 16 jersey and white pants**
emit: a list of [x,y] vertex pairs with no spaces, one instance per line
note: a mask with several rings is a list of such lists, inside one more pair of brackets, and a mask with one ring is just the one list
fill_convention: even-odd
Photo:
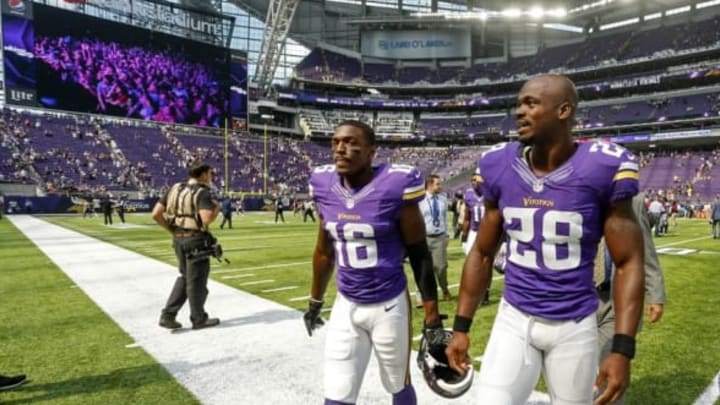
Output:
[[345,121],[332,137],[334,165],[315,168],[310,193],[320,216],[313,254],[308,334],[322,326],[320,311],[333,267],[337,289],[325,343],[325,404],[354,404],[375,352],[393,404],[414,405],[410,383],[411,305],[403,271],[410,259],[425,308],[424,334],[444,338],[437,284],[418,202],[424,181],[412,166],[372,165],[375,132]]

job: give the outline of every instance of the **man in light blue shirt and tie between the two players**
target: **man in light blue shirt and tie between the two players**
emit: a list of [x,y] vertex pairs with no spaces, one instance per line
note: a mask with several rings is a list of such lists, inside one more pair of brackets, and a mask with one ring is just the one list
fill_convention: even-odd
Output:
[[420,203],[420,211],[425,219],[427,244],[433,259],[433,270],[443,292],[443,299],[450,301],[452,295],[447,281],[447,247],[450,239],[447,226],[448,201],[441,191],[440,176],[429,175],[425,180],[425,199]]

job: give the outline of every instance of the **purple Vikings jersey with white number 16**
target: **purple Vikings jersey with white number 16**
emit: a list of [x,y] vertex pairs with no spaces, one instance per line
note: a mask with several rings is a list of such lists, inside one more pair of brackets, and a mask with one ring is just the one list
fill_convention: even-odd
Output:
[[359,190],[342,184],[334,165],[315,168],[310,193],[334,241],[338,290],[357,303],[382,302],[407,286],[400,210],[425,198],[420,172],[408,165],[374,167]]

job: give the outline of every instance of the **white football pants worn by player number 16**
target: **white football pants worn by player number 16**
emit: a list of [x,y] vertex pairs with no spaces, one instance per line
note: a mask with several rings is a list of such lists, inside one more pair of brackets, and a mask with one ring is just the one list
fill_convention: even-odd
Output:
[[390,394],[410,384],[410,298],[407,291],[375,304],[356,304],[338,292],[325,342],[325,398],[355,403],[370,351]]

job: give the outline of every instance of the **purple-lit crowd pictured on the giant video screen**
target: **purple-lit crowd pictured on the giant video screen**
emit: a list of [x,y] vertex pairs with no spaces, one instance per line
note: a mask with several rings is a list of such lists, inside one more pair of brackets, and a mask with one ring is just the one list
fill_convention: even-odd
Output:
[[70,36],[36,38],[35,55],[63,82],[75,83],[92,95],[97,100],[93,112],[109,113],[113,106],[131,118],[222,125],[227,97],[214,63]]

